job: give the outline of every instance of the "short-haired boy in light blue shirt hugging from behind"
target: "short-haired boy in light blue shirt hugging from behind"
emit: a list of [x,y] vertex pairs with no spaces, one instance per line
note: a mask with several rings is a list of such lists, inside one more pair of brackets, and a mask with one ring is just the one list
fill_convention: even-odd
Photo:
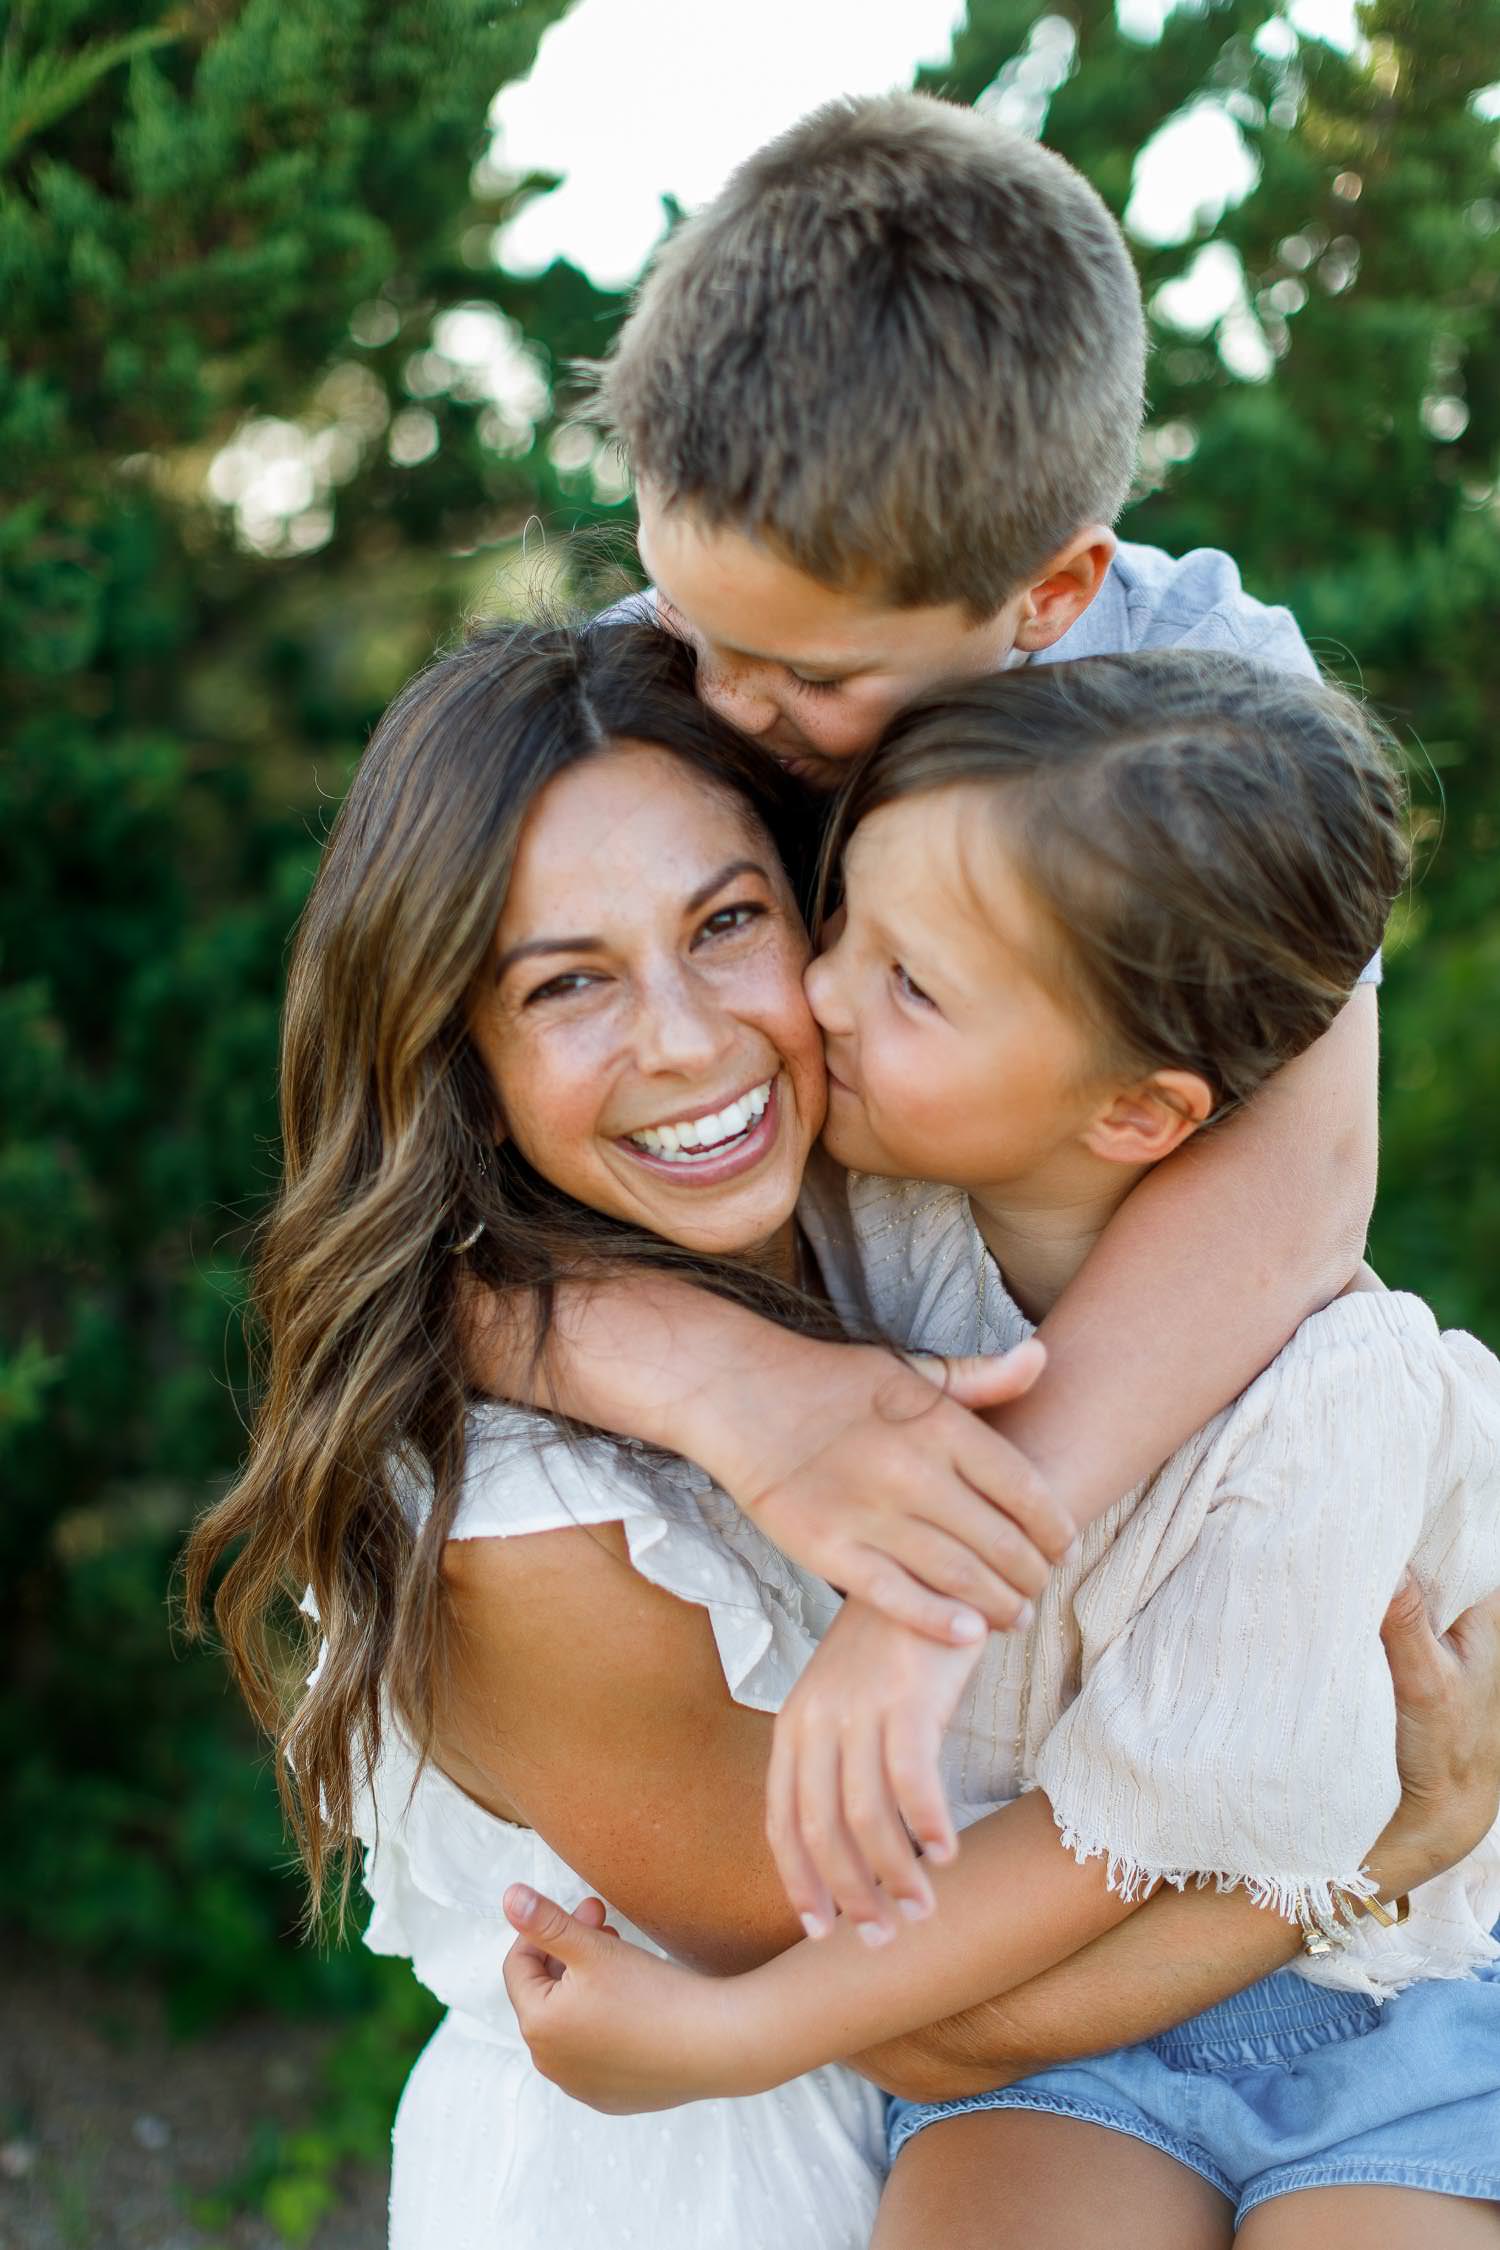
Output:
[[[828,788],[940,677],[1163,644],[1311,668],[1226,556],[1118,544],[1142,367],[1120,230],[1055,153],[895,94],[753,155],[666,245],[600,376],[704,698]],[[965,1370],[933,1406],[882,1354],[666,1280],[567,1307],[551,1402],[690,1454],[798,1562],[909,1624],[978,1627],[931,1588],[1007,1624],[1073,1528],[1349,1280],[1374,1150],[1363,990],[1111,1222],[1043,1323],[1010,1444],[956,1400],[1034,1370]],[[1223,1271],[1244,1276],[1228,1316]],[[996,1503],[983,1532],[972,1487]]]

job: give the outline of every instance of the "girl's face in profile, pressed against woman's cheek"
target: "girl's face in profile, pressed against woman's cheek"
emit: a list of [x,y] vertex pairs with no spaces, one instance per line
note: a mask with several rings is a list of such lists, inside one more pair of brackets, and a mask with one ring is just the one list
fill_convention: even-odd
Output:
[[1066,1190],[1115,1082],[1068,1006],[1059,936],[1005,846],[996,794],[956,785],[870,812],[843,893],[807,970],[825,1148],[895,1179]]

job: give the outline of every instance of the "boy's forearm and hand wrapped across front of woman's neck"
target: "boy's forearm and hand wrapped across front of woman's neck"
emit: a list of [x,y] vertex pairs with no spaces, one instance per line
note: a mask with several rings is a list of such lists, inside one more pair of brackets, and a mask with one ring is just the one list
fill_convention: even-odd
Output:
[[468,1296],[477,1388],[686,1454],[783,1552],[936,1640],[1014,1624],[1073,1541],[1023,1454],[969,1411],[1019,1397],[1041,1346],[960,1361],[940,1386],[897,1352],[636,1271],[562,1285],[533,1372],[508,1312]]

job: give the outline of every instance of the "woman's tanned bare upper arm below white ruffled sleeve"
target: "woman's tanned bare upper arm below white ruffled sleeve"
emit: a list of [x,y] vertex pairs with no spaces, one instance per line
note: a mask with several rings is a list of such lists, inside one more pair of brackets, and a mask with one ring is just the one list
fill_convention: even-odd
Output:
[[771,1717],[735,1703],[706,1609],[618,1523],[454,1539],[436,1757],[679,1960],[726,1973],[801,1937],[765,1840]]

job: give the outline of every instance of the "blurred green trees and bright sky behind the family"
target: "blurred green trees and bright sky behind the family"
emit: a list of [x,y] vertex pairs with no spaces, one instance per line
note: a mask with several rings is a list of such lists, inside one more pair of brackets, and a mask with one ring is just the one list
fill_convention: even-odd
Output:
[[0,2243],[382,2239],[430,2005],[292,1942],[169,1629],[286,938],[400,680],[630,565],[569,362],[652,241],[913,76],[1127,223],[1127,536],[1228,547],[1410,749],[1374,1256],[1500,1346],[1500,0],[0,0]]

